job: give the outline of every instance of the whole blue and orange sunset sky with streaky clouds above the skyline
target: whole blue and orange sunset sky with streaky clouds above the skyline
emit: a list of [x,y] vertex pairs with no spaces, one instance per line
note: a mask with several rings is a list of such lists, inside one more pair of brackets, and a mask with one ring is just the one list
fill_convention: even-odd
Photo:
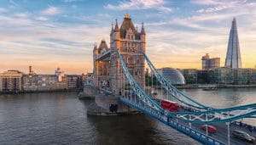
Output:
[[256,64],[255,0],[0,0],[0,72],[91,72],[93,44],[109,43],[111,24],[126,13],[139,29],[144,23],[157,68],[201,69],[205,53],[223,66],[234,17],[242,66]]

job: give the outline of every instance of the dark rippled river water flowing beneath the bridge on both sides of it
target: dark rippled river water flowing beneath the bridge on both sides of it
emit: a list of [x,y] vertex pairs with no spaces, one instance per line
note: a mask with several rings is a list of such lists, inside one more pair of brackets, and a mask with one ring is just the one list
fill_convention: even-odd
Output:
[[[183,92],[215,108],[256,103],[256,88]],[[2,95],[0,144],[200,144],[144,115],[87,116],[91,102],[77,92]]]

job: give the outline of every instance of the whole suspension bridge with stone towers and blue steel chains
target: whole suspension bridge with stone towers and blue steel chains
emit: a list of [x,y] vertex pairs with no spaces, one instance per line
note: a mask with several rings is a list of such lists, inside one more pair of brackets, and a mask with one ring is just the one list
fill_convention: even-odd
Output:
[[[233,136],[234,130],[245,131],[256,136],[256,127],[241,124],[237,120],[254,117],[256,103],[228,109],[215,109],[199,103],[160,75],[146,54],[146,33],[133,25],[131,16],[125,14],[119,28],[118,21],[111,29],[110,47],[102,40],[99,47],[93,49],[94,70],[89,81],[90,86],[98,88],[96,111],[104,114],[118,114],[140,111],[149,117],[194,138],[204,144],[248,144]],[[178,103],[177,112],[163,109],[159,99],[151,92],[153,84],[145,87],[145,67],[151,71],[151,80],[157,81],[165,100]],[[91,88],[91,87],[90,87]],[[108,92],[108,93],[107,93]],[[165,93],[163,93],[165,92]],[[90,110],[93,112],[93,109]],[[201,130],[201,125],[214,125],[217,132],[212,134]],[[171,132],[170,132],[171,133]],[[255,144],[255,142],[253,142]]]

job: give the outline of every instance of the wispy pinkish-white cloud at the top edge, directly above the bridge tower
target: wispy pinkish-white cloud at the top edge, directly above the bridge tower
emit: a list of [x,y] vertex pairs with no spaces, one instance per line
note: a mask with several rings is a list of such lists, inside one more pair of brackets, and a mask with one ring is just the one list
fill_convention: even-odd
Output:
[[112,10],[154,8],[163,13],[171,13],[172,8],[165,7],[164,3],[164,0],[130,0],[126,2],[119,2],[119,5],[108,4],[105,8]]

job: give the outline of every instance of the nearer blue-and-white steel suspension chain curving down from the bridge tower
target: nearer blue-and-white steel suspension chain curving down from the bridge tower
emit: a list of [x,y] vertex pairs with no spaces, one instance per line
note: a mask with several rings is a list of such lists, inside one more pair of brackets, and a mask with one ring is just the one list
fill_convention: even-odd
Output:
[[[256,114],[256,104],[248,104],[248,105],[238,106],[238,107],[229,108],[229,109],[212,109],[207,107],[208,109],[207,111],[201,111],[201,112],[175,112],[174,113],[174,112],[170,112],[168,110],[162,109],[160,105],[156,103],[152,98],[150,98],[147,95],[147,93],[144,92],[143,89],[137,84],[137,81],[134,80],[134,78],[130,74],[130,71],[126,67],[125,61],[122,58],[121,54],[118,51],[116,51],[116,53],[119,56],[119,61],[123,69],[123,72],[125,74],[125,77],[129,82],[129,84],[131,85],[131,88],[133,92],[136,94],[137,98],[139,98],[140,101],[142,101],[146,106],[148,106],[151,109],[155,109],[156,112],[158,112],[158,114],[164,114],[167,118],[176,118],[178,120],[199,123],[199,124],[210,124],[210,123],[229,122],[232,120],[239,120],[241,118],[249,117]],[[156,73],[158,72],[156,71]],[[165,79],[163,80],[165,81]],[[169,85],[172,86],[171,83],[169,83]],[[189,100],[192,100],[192,99],[190,98]],[[200,104],[200,103],[196,103],[196,104]],[[230,115],[232,111],[233,112],[240,111],[241,113]],[[209,117],[208,119],[208,117],[206,116],[208,116],[209,114],[211,117]],[[226,115],[226,114],[229,114],[229,115]]]

